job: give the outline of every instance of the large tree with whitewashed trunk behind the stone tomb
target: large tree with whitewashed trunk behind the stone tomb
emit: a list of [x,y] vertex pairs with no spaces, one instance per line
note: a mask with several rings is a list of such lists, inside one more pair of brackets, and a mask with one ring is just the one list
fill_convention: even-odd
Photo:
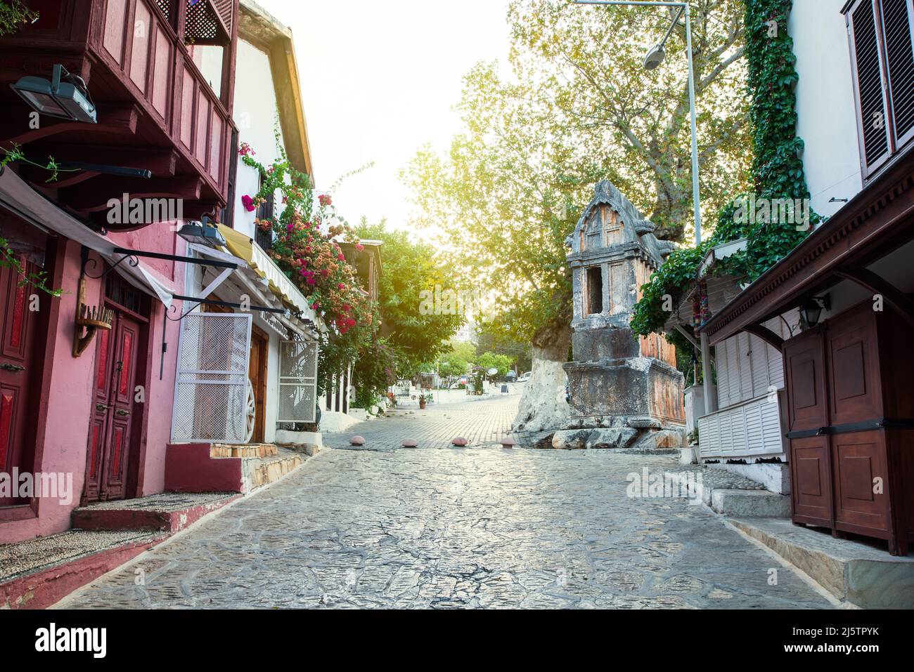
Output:
[[[692,4],[703,212],[746,183],[742,4]],[[443,232],[486,290],[491,329],[533,345],[517,430],[563,425],[571,317],[564,240],[593,184],[609,179],[658,226],[692,227],[685,26],[661,68],[643,57],[672,20],[665,9],[516,1],[510,75],[481,63],[465,77],[463,130],[450,152],[423,148],[404,177],[416,223]]]

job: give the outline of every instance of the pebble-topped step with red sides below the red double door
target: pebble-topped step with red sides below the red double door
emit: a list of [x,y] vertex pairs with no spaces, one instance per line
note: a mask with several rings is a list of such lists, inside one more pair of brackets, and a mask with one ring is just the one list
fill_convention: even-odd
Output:
[[234,492],[165,492],[73,509],[70,520],[75,530],[160,530],[174,533],[239,497],[240,494]]

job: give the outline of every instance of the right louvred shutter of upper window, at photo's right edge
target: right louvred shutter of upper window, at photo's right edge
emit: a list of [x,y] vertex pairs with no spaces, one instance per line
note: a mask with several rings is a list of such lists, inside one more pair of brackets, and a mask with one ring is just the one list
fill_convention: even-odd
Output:
[[895,145],[914,136],[914,47],[912,0],[882,0],[882,25]]

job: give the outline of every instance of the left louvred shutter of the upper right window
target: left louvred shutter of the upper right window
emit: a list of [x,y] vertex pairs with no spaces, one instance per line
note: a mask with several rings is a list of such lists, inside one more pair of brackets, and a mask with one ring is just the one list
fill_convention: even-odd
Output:
[[860,112],[861,167],[865,176],[886,162],[889,145],[886,73],[878,36],[876,0],[861,0],[848,15],[856,99]]

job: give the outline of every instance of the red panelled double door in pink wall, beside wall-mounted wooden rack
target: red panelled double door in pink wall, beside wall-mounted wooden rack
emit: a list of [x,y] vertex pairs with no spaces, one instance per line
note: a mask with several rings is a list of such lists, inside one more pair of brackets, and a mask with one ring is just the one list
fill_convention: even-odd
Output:
[[139,337],[139,324],[122,313],[117,313],[111,331],[97,336],[86,501],[126,497]]

